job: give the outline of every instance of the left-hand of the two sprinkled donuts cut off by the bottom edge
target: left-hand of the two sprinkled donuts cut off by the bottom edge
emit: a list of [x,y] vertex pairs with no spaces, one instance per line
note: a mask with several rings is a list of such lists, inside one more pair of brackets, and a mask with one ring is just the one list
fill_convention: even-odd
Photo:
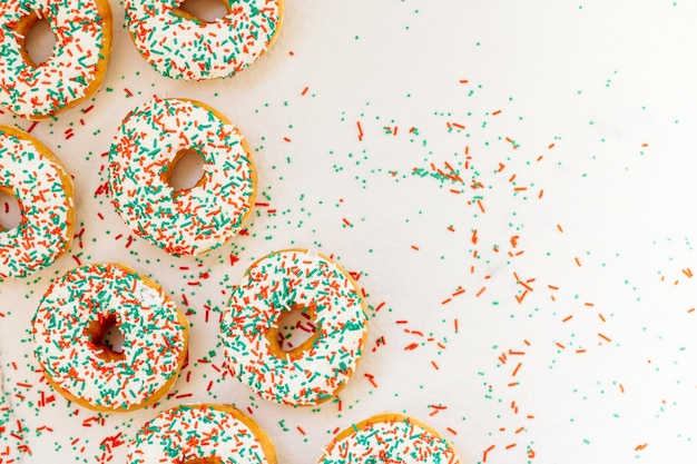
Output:
[[127,464],[276,464],[271,438],[251,417],[222,404],[167,409],[136,433]]

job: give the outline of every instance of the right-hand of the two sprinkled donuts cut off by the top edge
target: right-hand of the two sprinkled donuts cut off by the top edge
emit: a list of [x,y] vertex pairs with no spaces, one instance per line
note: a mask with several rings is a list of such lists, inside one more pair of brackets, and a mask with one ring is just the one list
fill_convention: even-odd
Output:
[[126,0],[128,31],[140,55],[165,77],[230,77],[275,41],[283,0],[223,1],[227,16],[206,22],[179,8],[181,0]]

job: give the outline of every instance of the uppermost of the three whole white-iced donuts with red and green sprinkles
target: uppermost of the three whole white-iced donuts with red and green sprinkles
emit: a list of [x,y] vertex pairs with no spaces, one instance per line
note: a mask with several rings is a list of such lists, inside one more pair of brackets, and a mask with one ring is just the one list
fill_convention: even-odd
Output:
[[[169,174],[192,150],[204,160],[204,176],[175,191]],[[198,255],[242,229],[256,196],[256,169],[242,134],[215,109],[155,98],[119,127],[109,151],[109,190],[136,235],[175,256]]]

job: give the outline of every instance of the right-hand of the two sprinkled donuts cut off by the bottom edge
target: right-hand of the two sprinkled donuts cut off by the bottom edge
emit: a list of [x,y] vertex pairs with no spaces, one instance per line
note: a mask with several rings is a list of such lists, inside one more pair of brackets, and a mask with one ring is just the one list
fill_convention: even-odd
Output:
[[453,445],[426,424],[401,414],[379,414],[340,432],[318,464],[458,464]]

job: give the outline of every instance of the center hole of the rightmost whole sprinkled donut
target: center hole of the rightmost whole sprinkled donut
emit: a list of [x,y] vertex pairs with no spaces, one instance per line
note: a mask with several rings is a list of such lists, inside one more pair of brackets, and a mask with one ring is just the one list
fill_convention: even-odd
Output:
[[272,332],[269,336],[276,352],[302,356],[318,336],[314,308],[292,305],[278,316],[276,328]]

